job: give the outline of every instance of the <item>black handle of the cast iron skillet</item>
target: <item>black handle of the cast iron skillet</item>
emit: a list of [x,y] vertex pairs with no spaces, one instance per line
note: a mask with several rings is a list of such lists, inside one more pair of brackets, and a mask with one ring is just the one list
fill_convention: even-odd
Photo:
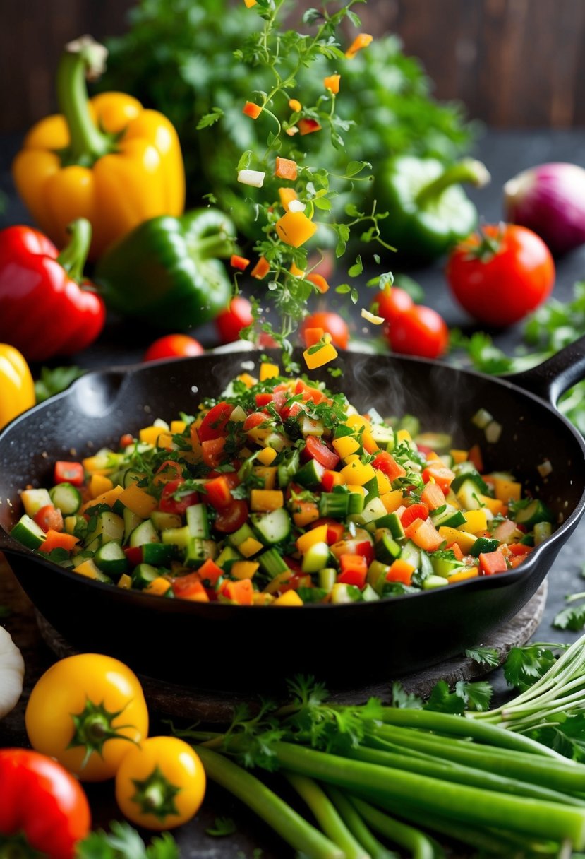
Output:
[[585,337],[565,346],[536,367],[502,378],[556,406],[562,393],[585,379]]

